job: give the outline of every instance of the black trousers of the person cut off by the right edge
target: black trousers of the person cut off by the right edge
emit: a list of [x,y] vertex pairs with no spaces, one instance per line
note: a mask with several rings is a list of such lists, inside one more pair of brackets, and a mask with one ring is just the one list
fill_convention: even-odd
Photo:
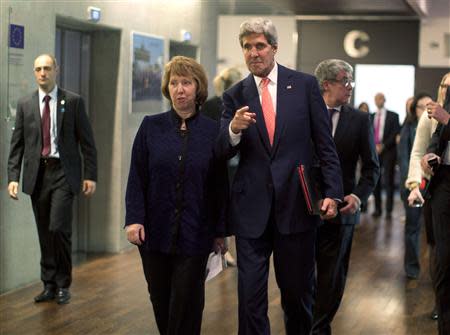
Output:
[[431,208],[435,239],[435,292],[440,335],[450,334],[450,166],[433,176]]

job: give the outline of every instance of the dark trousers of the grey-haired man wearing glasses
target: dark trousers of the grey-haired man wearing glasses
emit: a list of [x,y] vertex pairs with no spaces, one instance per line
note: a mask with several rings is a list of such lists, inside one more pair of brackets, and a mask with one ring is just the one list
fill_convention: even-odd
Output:
[[359,213],[319,226],[316,241],[314,335],[331,334],[331,322],[341,304],[347,280],[355,224]]

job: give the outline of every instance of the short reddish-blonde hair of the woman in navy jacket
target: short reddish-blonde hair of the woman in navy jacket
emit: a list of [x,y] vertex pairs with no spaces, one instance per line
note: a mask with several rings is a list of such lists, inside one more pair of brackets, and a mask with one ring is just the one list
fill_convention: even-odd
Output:
[[172,75],[194,78],[197,83],[195,102],[198,106],[208,98],[208,79],[203,66],[194,59],[184,56],[175,56],[164,66],[164,76],[161,83],[162,94],[172,103],[169,93],[169,81]]

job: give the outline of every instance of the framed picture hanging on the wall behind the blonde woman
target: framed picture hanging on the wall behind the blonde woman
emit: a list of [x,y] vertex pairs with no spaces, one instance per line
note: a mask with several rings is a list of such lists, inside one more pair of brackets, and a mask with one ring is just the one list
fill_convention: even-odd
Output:
[[165,40],[145,33],[131,33],[132,113],[158,114],[164,109],[161,81]]

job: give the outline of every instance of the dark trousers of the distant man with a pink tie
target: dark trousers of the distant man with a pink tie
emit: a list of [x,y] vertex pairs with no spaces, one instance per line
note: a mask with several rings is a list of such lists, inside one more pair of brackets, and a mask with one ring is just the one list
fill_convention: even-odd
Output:
[[378,158],[380,160],[380,179],[375,186],[373,196],[375,197],[375,210],[377,212],[383,212],[381,205],[381,190],[386,190],[386,213],[391,214],[394,207],[394,179],[395,179],[395,164],[397,162],[397,156],[391,154],[381,154]]

